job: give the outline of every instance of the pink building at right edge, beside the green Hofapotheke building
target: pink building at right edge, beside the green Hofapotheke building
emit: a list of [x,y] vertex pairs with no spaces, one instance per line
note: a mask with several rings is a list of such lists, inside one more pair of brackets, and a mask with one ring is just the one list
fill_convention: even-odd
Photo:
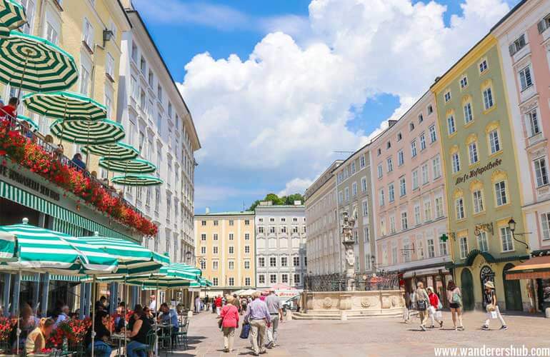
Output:
[[550,1],[522,1],[492,33],[511,106],[529,248],[550,251]]

